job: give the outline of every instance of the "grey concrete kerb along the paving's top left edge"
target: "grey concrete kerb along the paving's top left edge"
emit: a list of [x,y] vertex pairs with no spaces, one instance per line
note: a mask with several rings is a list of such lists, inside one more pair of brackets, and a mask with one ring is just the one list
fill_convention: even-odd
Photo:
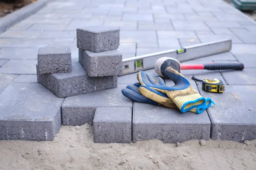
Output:
[[0,34],[6,31],[11,26],[19,23],[21,20],[26,19],[32,14],[35,14],[40,8],[45,6],[50,0],[38,0],[34,3],[30,3],[11,14],[6,15],[0,19]]

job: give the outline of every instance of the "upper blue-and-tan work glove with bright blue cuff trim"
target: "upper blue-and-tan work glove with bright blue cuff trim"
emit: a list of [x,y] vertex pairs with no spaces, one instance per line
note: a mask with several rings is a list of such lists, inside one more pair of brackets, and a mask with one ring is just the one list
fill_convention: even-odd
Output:
[[171,67],[166,68],[165,74],[169,79],[172,79],[175,83],[174,86],[168,87],[162,83],[157,83],[148,74],[140,71],[137,74],[137,79],[141,84],[138,89],[139,93],[163,105],[165,105],[165,101],[162,100],[163,98],[156,97],[155,91],[166,94],[183,113],[190,111],[200,114],[211,104],[214,104],[211,99],[202,97],[191,87],[189,81],[182,74]]

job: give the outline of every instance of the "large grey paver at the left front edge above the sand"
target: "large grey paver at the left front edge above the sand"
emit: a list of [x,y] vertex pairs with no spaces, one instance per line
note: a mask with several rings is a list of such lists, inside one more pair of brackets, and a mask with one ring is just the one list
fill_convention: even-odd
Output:
[[40,84],[9,85],[0,95],[0,139],[53,140],[61,126],[63,100]]

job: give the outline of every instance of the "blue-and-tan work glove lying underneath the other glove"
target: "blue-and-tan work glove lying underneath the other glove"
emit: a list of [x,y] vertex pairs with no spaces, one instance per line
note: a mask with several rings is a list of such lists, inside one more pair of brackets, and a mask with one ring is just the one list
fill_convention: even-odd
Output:
[[[160,85],[165,85],[161,77],[157,77],[155,81],[156,81],[155,83],[159,83]],[[151,89],[152,93],[154,93],[154,95],[152,95],[152,98],[154,98],[154,100],[151,100],[141,95],[139,92],[140,85],[141,85],[140,82],[136,82],[134,83],[134,85],[128,85],[126,88],[122,89],[122,94],[128,99],[131,99],[136,102],[143,102],[143,103],[148,103],[148,104],[157,105],[157,106],[164,105],[168,108],[177,108],[175,103],[166,94],[163,94],[154,89]]]

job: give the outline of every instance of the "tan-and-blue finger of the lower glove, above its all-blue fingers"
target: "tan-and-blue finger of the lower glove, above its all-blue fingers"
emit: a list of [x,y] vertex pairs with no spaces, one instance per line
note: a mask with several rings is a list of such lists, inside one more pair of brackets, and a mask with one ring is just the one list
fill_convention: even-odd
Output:
[[177,108],[175,103],[166,94],[163,94],[163,93],[156,91],[152,88],[141,85],[139,88],[139,92],[143,96],[145,96],[157,103],[160,103],[161,105],[164,105],[168,108]]

